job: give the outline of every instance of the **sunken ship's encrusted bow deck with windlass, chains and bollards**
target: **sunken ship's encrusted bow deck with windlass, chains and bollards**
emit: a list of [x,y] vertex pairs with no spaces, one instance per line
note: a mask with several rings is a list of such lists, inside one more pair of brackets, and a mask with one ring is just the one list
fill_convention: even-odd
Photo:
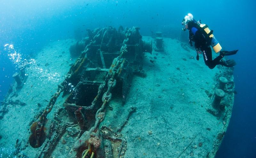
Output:
[[1,146],[35,158],[214,157],[231,116],[232,69],[209,69],[187,44],[139,30],[88,29],[39,52],[3,101]]

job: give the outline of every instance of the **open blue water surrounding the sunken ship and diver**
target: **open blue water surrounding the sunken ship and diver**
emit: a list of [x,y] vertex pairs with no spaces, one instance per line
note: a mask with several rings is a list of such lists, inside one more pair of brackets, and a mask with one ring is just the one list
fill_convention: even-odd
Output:
[[[181,20],[190,12],[201,19],[225,50],[239,49],[235,104],[227,133],[217,158],[256,157],[256,11],[253,1],[167,1],[154,0],[28,0],[0,1],[0,100],[12,83],[15,65],[8,59],[4,45],[13,44],[23,55],[33,57],[55,40],[86,34],[86,29],[113,26],[139,26],[142,35],[162,31],[179,38]],[[179,53],[179,52],[177,52]],[[195,53],[191,54],[195,55]],[[202,62],[202,61],[199,61]],[[188,65],[189,66],[189,65]]]

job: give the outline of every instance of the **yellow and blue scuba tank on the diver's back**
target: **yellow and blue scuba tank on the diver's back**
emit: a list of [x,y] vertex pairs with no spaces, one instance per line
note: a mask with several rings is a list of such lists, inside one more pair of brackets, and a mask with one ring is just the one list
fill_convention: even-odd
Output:
[[212,46],[213,50],[215,51],[215,53],[219,53],[220,50],[222,49],[222,47],[220,46],[220,43],[217,41],[217,39],[212,34],[213,30],[210,31],[210,29],[207,25],[201,24],[201,20],[199,20],[197,23],[206,33],[205,34],[206,37],[209,37],[209,40],[211,41],[211,46]]

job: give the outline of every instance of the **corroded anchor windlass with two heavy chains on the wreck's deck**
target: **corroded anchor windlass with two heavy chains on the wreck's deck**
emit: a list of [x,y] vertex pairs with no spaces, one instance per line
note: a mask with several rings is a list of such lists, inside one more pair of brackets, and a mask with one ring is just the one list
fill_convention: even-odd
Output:
[[[132,75],[145,75],[144,52],[152,52],[152,42],[142,40],[139,27],[87,31],[87,38],[70,47],[71,55],[81,55],[44,111],[34,116],[27,141],[17,142],[17,151],[36,150],[36,158],[48,158],[68,144],[69,153],[63,157],[113,157],[115,147],[116,156],[123,157],[126,140],[119,132],[136,108],[131,107],[115,129],[101,122],[111,100],[125,106]],[[66,98],[63,106],[56,105],[49,114],[61,93]]]

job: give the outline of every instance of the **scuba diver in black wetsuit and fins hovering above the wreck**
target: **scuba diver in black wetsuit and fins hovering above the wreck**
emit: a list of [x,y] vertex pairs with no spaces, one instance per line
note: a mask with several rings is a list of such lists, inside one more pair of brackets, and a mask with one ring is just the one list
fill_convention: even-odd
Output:
[[[212,34],[212,30],[208,28],[207,25],[202,24],[201,20],[196,22],[193,19],[193,15],[188,13],[182,21],[182,25],[184,26],[182,30],[189,31],[189,44],[192,46],[192,41],[195,42],[195,50],[196,50],[196,60],[199,60],[199,55],[201,52],[203,53],[204,63],[210,69],[215,68],[216,65],[222,65],[225,67],[233,67],[236,65],[234,60],[221,60],[225,55],[233,55],[236,54],[238,50],[234,51],[220,51],[221,46],[219,42],[215,39]],[[214,60],[212,60],[212,49],[214,49],[216,53],[220,52],[220,55],[217,56]]]

